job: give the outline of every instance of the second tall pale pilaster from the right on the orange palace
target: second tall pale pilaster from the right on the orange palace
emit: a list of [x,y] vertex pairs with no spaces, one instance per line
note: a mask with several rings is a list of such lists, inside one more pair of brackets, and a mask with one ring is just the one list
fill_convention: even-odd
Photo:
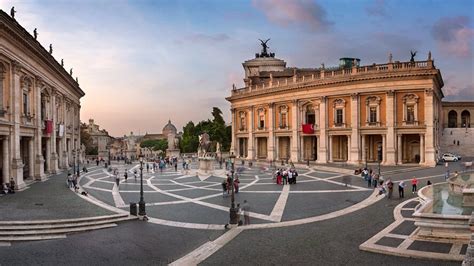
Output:
[[395,93],[388,91],[386,96],[386,121],[387,121],[387,137],[386,137],[386,156],[384,161],[386,165],[395,165],[395,115],[396,115],[396,102]]

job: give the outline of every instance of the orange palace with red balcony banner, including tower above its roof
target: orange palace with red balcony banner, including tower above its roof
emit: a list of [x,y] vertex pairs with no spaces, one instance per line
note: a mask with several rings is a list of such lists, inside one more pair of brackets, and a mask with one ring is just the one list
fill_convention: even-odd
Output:
[[287,68],[274,54],[243,63],[232,88],[232,147],[249,160],[435,165],[443,79],[426,61]]

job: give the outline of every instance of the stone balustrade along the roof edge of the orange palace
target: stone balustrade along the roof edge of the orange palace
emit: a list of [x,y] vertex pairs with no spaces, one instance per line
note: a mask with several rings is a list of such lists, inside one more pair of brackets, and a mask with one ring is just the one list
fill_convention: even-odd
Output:
[[356,75],[365,75],[373,73],[386,73],[407,71],[413,69],[435,69],[433,61],[417,61],[417,62],[394,62],[388,64],[373,64],[369,66],[352,67],[352,68],[336,68],[336,69],[319,69],[311,75],[293,76],[285,79],[271,79],[268,82],[251,85],[240,89],[232,89],[232,96],[242,95],[253,91],[261,91],[275,87],[285,87],[305,82],[313,82],[317,80],[350,77]]

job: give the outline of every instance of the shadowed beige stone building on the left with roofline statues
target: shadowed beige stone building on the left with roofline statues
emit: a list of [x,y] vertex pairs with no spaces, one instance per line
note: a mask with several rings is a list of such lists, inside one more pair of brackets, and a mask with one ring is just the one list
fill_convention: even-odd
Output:
[[2,183],[44,179],[80,152],[80,98],[70,74],[15,19],[0,10]]

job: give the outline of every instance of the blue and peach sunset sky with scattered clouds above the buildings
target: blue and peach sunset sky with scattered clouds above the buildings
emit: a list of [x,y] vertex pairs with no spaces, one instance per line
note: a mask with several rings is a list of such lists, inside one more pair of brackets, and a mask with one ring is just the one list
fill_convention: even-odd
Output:
[[444,100],[474,101],[474,1],[471,0],[0,0],[38,41],[73,68],[86,96],[81,120],[112,136],[161,133],[171,119],[230,118],[242,63],[268,39],[289,67],[417,60],[432,52]]

